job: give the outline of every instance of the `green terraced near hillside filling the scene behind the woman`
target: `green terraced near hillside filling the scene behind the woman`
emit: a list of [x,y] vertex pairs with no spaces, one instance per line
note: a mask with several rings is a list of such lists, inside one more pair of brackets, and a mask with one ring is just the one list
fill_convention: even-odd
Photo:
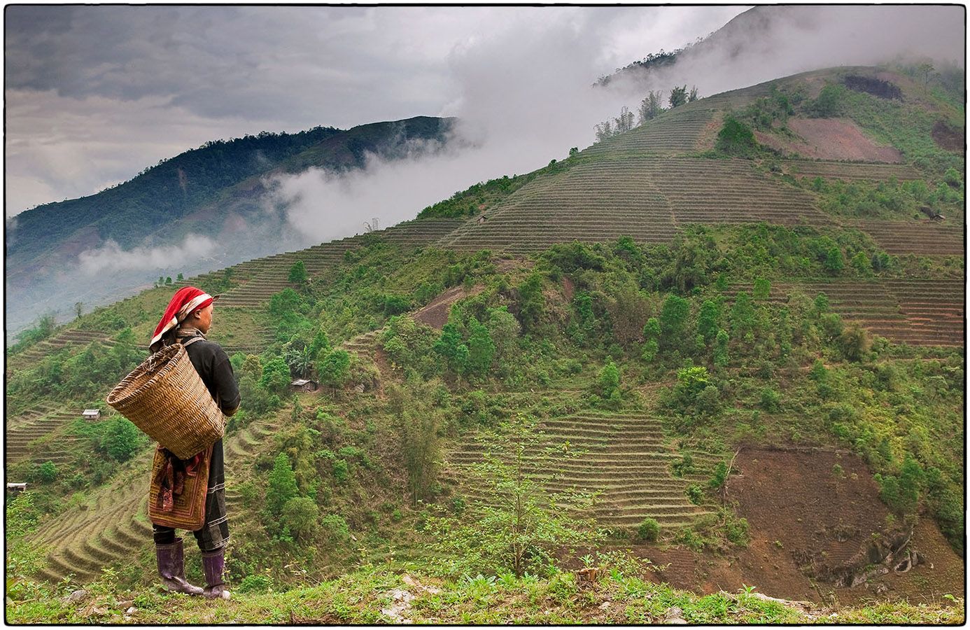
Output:
[[[845,86],[861,72],[686,103],[414,221],[189,279],[223,293],[210,338],[242,391],[230,604],[147,593],[150,446],[103,403],[173,287],[41,321],[9,357],[16,618],[959,621],[962,158],[857,104],[880,98]],[[903,162],[718,148],[829,85]],[[771,474],[813,487],[752,490]]]

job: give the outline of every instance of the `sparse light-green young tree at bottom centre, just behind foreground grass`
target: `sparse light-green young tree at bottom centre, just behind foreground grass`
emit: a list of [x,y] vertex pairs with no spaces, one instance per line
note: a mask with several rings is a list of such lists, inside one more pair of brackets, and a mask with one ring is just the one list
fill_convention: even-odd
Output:
[[461,518],[428,519],[425,531],[438,551],[451,555],[457,570],[511,570],[521,578],[552,562],[557,548],[592,546],[602,539],[592,518],[571,514],[591,507],[589,493],[546,494],[534,479],[530,463],[536,457],[553,471],[556,460],[566,457],[561,448],[540,448],[540,440],[531,416],[502,422],[500,433],[483,445],[484,462],[469,467],[470,477],[487,488],[487,501],[475,502]]

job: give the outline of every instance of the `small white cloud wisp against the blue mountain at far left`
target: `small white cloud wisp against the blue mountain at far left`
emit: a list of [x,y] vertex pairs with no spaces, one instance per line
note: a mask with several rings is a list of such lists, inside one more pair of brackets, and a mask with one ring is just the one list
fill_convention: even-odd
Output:
[[186,260],[193,262],[208,257],[216,244],[204,236],[189,235],[181,245],[158,248],[121,249],[107,241],[97,249],[82,251],[78,256],[81,273],[95,276],[106,272],[178,269]]

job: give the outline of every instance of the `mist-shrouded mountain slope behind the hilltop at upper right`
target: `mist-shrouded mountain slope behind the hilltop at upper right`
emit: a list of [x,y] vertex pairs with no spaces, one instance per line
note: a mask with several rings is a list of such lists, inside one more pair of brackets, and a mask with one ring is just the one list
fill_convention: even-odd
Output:
[[962,68],[964,18],[957,6],[761,6],[674,65],[631,73],[611,87],[635,97],[646,89],[669,94],[671,86],[686,83],[710,96],[836,66],[928,58]]

